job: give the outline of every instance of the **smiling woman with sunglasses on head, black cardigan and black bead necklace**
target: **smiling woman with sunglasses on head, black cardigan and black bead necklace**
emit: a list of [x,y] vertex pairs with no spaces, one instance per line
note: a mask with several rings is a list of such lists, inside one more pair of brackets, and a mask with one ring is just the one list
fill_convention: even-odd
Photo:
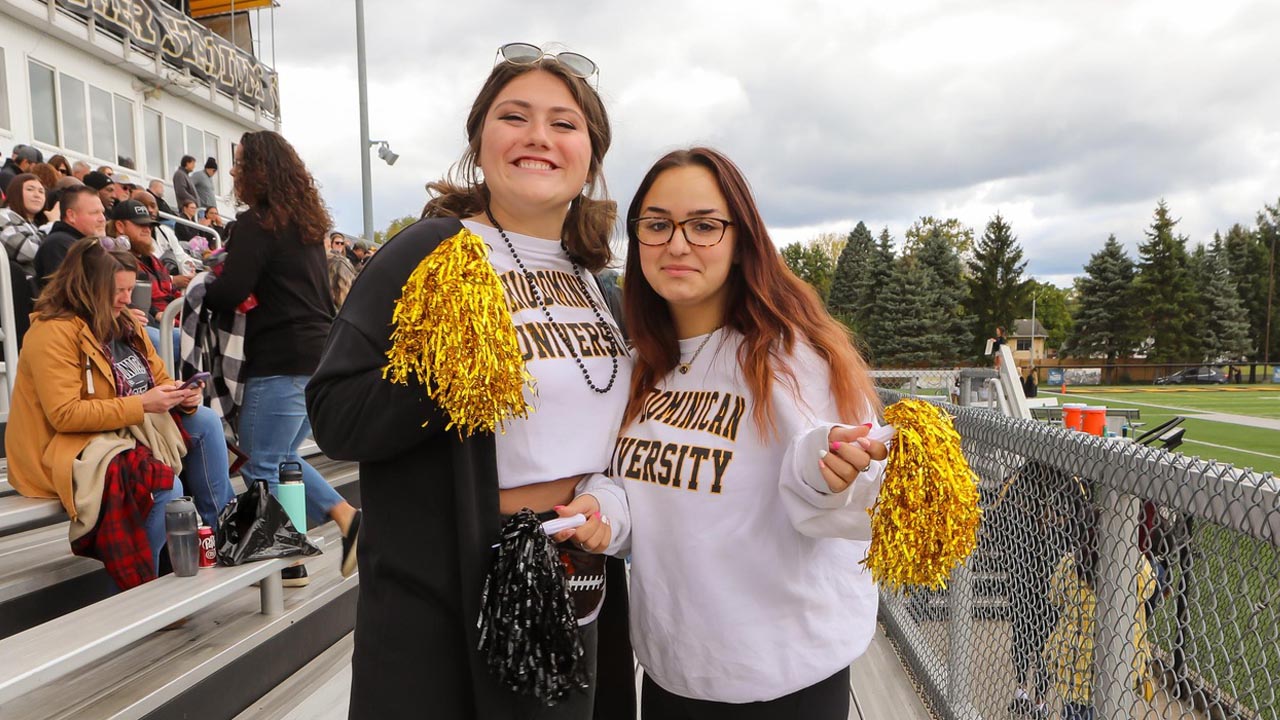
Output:
[[[595,64],[525,44],[500,55],[467,117],[462,160],[429,186],[424,219],[385,243],[356,279],[307,388],[320,447],[361,462],[352,717],[416,717],[424,706],[440,717],[485,720],[593,714],[590,689],[550,707],[516,696],[476,650],[503,516],[526,507],[554,516],[580,487],[608,482],[596,473],[608,464],[631,369],[589,274],[609,261],[616,218],[616,205],[603,197],[608,115],[588,83]],[[463,356],[513,350],[512,369],[517,377],[527,372],[536,389],[516,388],[527,415],[506,418],[500,432],[476,429],[465,409],[434,400],[443,397],[430,395],[434,382],[384,378],[389,359],[394,368],[404,355],[399,338],[410,329],[408,311],[456,300],[462,324],[480,316],[480,283],[430,290],[463,260],[462,247],[480,256],[476,266],[497,293],[490,300],[507,316],[472,345],[434,355],[419,348],[413,357],[457,366]],[[445,328],[442,342],[456,334]],[[586,527],[599,525],[591,518]],[[599,562],[579,555],[584,566]],[[594,591],[577,603],[590,674],[603,596],[598,573],[577,583]],[[625,588],[609,593],[618,591]],[[623,652],[628,662],[630,650]]]

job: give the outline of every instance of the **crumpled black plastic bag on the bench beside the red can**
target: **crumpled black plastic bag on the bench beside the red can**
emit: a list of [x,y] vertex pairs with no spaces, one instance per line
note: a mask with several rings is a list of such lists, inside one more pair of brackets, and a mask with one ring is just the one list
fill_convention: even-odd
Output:
[[266,480],[257,480],[218,514],[218,562],[243,565],[273,557],[320,555],[320,548],[289,521]]

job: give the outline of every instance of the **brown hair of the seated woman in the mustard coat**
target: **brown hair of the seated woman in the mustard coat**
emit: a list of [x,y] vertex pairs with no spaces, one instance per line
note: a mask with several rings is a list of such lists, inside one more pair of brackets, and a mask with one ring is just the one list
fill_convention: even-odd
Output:
[[128,251],[108,251],[96,237],[81,238],[45,283],[36,300],[36,315],[41,320],[79,318],[102,342],[132,337],[133,318],[113,311],[115,273],[125,272],[138,272],[138,261]]

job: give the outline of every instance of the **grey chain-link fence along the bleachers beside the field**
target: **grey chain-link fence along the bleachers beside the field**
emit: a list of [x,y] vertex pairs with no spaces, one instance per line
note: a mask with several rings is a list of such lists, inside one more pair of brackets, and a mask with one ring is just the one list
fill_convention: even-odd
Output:
[[1275,478],[942,406],[978,475],[978,550],[945,591],[881,593],[938,715],[1280,717]]

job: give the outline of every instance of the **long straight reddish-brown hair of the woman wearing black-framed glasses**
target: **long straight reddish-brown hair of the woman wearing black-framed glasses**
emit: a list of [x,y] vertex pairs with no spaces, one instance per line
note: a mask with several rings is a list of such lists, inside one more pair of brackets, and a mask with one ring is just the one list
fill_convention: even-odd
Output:
[[867,363],[854,348],[849,329],[827,314],[818,293],[797,278],[782,261],[769,238],[764,219],[755,206],[751,188],[732,160],[708,147],[668,152],[645,174],[627,209],[627,265],[622,283],[623,311],[636,365],[631,375],[631,397],[623,424],[635,419],[645,397],[658,380],[680,363],[680,342],[667,301],[662,299],[640,266],[640,242],[635,220],[654,181],[673,168],[700,167],[716,177],[728,202],[733,222],[735,263],[730,269],[724,327],[745,338],[737,361],[754,398],[753,416],[762,434],[777,432],[771,391],[776,375],[788,378],[799,396],[796,378],[782,360],[806,342],[831,368],[831,392],[840,419],[856,423],[868,410],[879,411],[879,397],[867,372]]

